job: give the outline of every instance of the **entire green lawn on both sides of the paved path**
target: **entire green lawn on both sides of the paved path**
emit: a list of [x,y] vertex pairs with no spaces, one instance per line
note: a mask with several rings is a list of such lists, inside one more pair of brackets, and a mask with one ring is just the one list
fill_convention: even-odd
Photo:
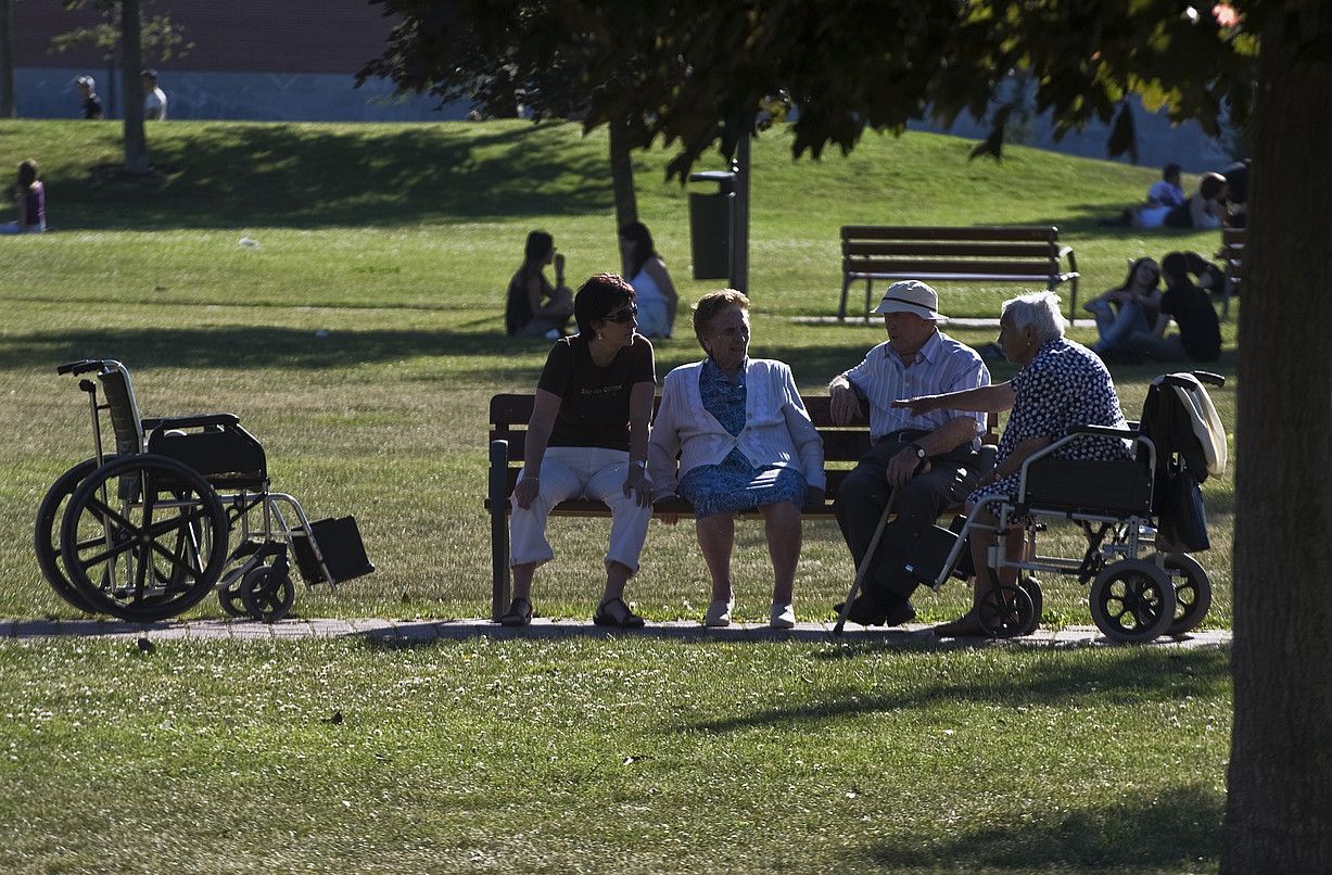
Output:
[[[298,615],[484,615],[486,402],[530,392],[547,349],[503,337],[503,289],[531,228],[554,233],[573,280],[617,269],[603,133],[149,133],[161,172],[132,184],[113,173],[115,124],[0,125],[9,166],[41,164],[56,229],[0,241],[0,617],[77,615],[40,577],[32,521],[91,453],[84,397],[55,374],[80,357],[129,365],[145,416],[238,413],[276,489],[316,517],[357,515],[378,570],[336,597],[300,593]],[[791,318],[835,313],[847,222],[1052,222],[1078,252],[1083,300],[1134,257],[1217,246],[1215,232],[1096,224],[1138,201],[1152,168],[1022,148],[968,162],[967,149],[870,135],[848,158],[793,164],[785,137],[759,140],[754,354],[818,393],[880,340]],[[697,300],[719,284],[690,278],[689,189],[663,181],[666,157],[635,160],[639,212]],[[1018,292],[940,290],[952,316],[995,316]],[[658,345],[659,377],[701,356],[679,328]],[[1213,398],[1233,429],[1235,322],[1223,332],[1231,381]],[[1114,373],[1135,418],[1158,370]],[[1208,625],[1228,627],[1233,477],[1204,491]],[[559,559],[538,575],[538,613],[590,615],[605,537],[606,521],[553,525]],[[766,617],[757,525],[739,527],[735,567],[738,613]],[[851,574],[835,526],[807,525],[802,618],[831,617]],[[630,589],[639,610],[701,617],[707,593],[693,527],[654,525]],[[916,607],[940,621],[967,601],[954,583]],[[209,599],[190,615],[220,613]],[[1046,582],[1046,626],[1088,622],[1084,587]],[[0,642],[0,870],[1213,870],[1227,659],[633,638],[153,654]]]

